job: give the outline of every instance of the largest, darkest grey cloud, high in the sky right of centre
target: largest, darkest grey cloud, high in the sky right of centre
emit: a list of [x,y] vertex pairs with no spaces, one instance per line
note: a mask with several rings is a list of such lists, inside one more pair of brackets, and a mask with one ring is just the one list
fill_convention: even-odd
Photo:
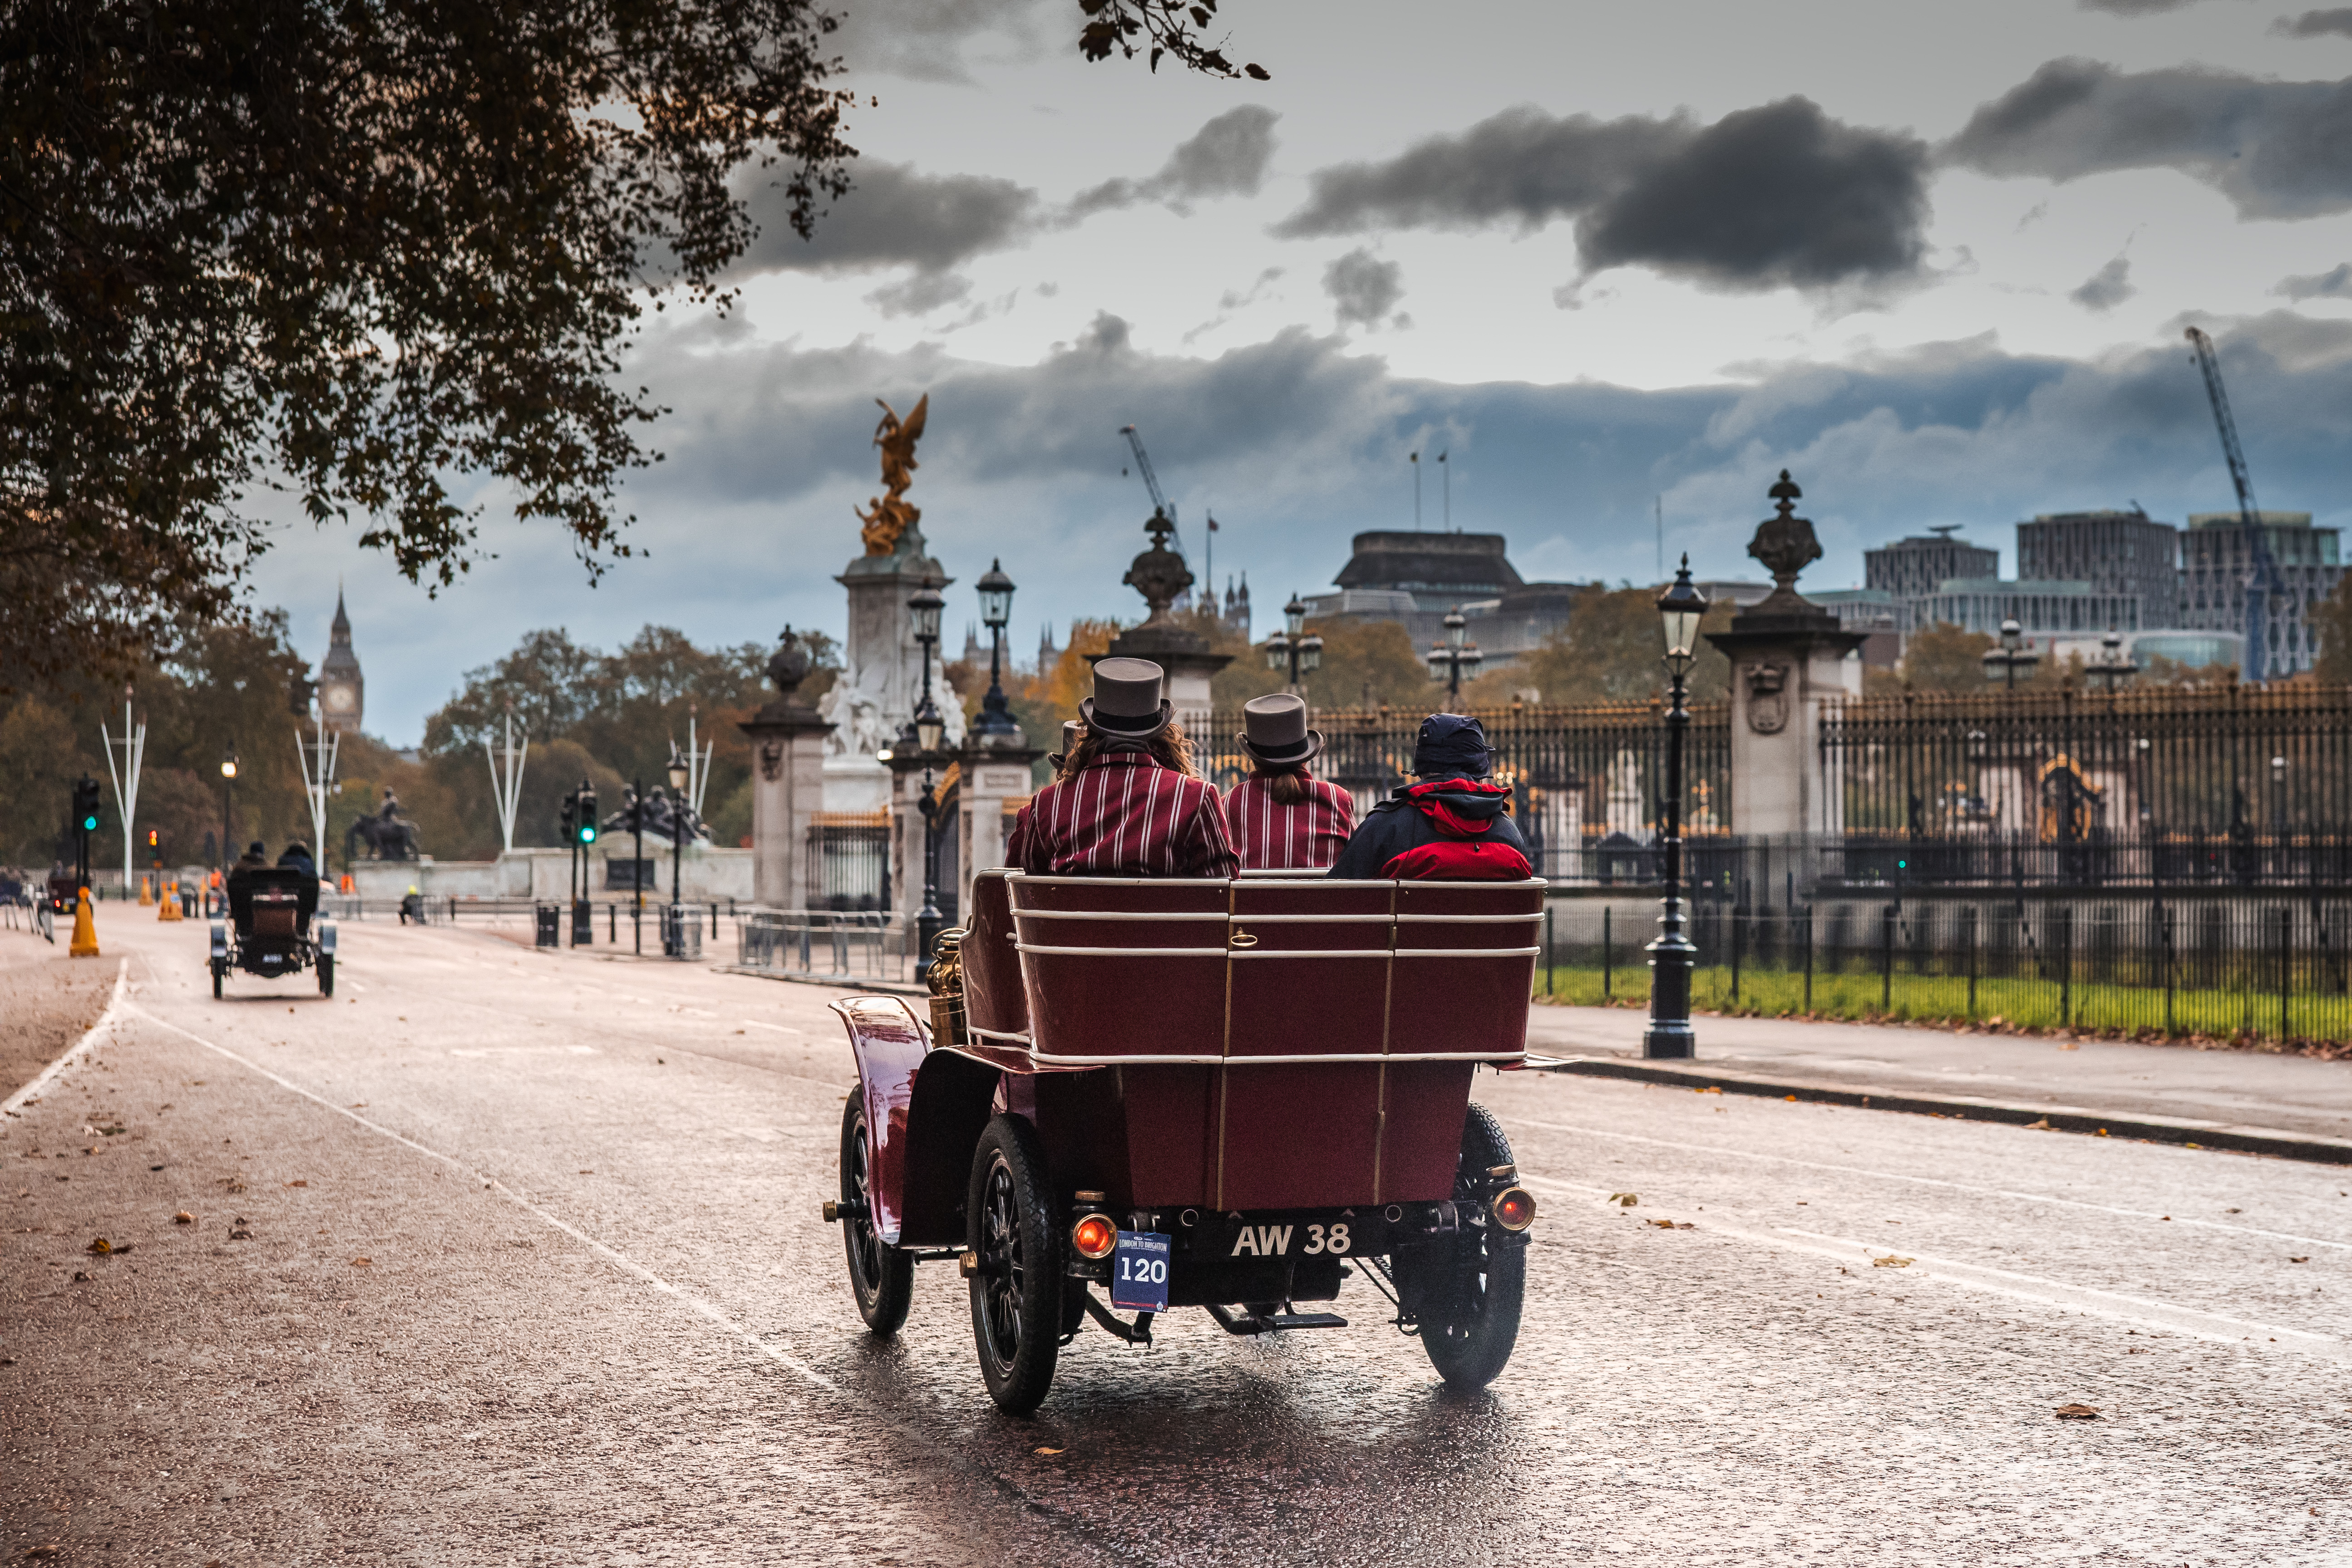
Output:
[[1541,228],[1576,219],[1588,270],[1653,266],[1717,289],[1915,273],[1926,143],[1783,99],[1700,127],[1512,108],[1388,162],[1310,179],[1284,237],[1376,228]]

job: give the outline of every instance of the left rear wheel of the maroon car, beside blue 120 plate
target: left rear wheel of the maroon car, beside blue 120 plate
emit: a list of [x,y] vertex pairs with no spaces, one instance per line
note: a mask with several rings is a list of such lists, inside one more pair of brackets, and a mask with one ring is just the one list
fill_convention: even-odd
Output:
[[1044,1401],[1061,1354],[1061,1227],[1047,1187],[1037,1133],[1018,1117],[997,1117],[971,1157],[969,1246],[971,1340],[981,1352],[988,1396],[1007,1415]]

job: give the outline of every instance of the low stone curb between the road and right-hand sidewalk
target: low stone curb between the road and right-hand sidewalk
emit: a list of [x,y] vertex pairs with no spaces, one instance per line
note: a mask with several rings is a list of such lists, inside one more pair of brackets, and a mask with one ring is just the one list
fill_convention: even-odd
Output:
[[1856,1110],[1896,1110],[1915,1117],[1945,1117],[1950,1121],[2004,1121],[2009,1126],[2042,1126],[2053,1133],[2140,1138],[2187,1150],[2230,1150],[2237,1154],[2305,1159],[2324,1166],[2352,1166],[2352,1143],[2347,1140],[2288,1133],[2270,1126],[2190,1121],[2187,1117],[2110,1117],[2096,1110],[2082,1110],[2079,1105],[2006,1105],[2002,1100],[1978,1100],[1971,1095],[1886,1093],[1879,1088],[1853,1088],[1846,1084],[1757,1079],[1738,1072],[1700,1072],[1696,1067],[1628,1063],[1606,1056],[1548,1060],[1529,1058],[1526,1065],[1536,1072],[1566,1072],[1588,1079],[1630,1079],[1635,1084],[1665,1084],[1672,1088],[1715,1088],[1717,1093],[1769,1095],[1773,1100],[1804,1100],[1811,1105],[1849,1105]]

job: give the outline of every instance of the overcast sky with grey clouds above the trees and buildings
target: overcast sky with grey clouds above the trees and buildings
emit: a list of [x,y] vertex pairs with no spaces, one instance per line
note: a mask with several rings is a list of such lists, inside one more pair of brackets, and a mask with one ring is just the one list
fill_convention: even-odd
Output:
[[[1778,468],[1825,559],[1929,524],[2232,505],[2183,327],[2223,348],[2263,505],[2352,522],[2352,7],[2256,0],[1381,5],[1228,0],[1270,82],[1084,63],[1077,5],[851,5],[858,188],[781,219],[727,320],[628,381],[673,414],[595,590],[546,529],[428,599],[289,527],[259,574],[303,651],[350,588],[367,729],[421,733],[529,628],[612,646],[844,628],[877,409],[931,395],[934,552],[1040,621],[1141,614],[1136,423],[1258,630],[1359,529],[1510,536],[1529,578],[1703,576]],[[873,99],[880,99],[877,103]],[[776,197],[743,190],[757,212]]]

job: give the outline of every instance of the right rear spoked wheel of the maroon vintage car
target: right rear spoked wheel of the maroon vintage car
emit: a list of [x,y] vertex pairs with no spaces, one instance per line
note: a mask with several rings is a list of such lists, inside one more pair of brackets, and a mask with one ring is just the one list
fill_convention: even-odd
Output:
[[1421,1300],[1421,1347],[1456,1389],[1494,1382],[1519,1342],[1526,1244],[1486,1213],[1486,1171],[1508,1164],[1510,1140],[1484,1105],[1472,1105],[1454,1168],[1461,1232],[1446,1244],[1397,1255],[1399,1284],[1409,1284]]

